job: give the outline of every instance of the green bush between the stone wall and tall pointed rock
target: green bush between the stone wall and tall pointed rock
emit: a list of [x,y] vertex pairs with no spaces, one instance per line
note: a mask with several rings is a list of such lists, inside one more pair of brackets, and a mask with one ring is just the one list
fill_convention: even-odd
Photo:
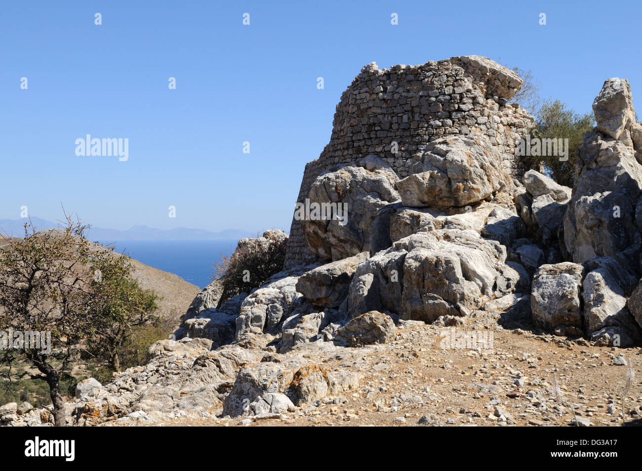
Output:
[[566,103],[555,100],[545,102],[535,116],[532,139],[568,139],[568,160],[560,161],[559,156],[524,156],[526,170],[542,172],[561,185],[573,187],[577,152],[584,134],[593,129],[593,113],[577,114],[566,107]]

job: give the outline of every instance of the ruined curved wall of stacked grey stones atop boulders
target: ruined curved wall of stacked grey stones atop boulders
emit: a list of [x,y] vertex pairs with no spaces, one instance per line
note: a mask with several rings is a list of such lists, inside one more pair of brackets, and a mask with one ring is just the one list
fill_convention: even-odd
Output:
[[[485,134],[498,147],[507,172],[521,178],[515,141],[533,119],[518,105],[506,103],[521,85],[512,71],[480,56],[390,69],[368,64],[343,92],[330,142],[318,159],[306,164],[297,202],[308,196],[320,173],[369,154],[406,177],[426,144],[451,134]],[[312,260],[300,222],[293,220],[285,267]]]

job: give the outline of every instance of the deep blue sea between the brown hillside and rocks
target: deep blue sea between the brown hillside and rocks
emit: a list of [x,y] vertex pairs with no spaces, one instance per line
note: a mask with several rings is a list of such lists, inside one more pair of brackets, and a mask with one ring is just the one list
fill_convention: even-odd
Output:
[[114,244],[118,253],[180,276],[188,283],[204,288],[212,281],[214,265],[221,256],[229,256],[238,240],[121,240],[101,241]]

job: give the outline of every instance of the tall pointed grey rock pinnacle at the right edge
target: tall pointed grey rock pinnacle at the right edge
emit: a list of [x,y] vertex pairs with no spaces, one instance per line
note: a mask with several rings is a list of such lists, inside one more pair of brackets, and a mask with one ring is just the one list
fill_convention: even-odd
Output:
[[628,80],[607,80],[593,110],[597,126],[582,141],[564,219],[566,250],[576,263],[610,256],[639,273],[642,125],[634,122]]

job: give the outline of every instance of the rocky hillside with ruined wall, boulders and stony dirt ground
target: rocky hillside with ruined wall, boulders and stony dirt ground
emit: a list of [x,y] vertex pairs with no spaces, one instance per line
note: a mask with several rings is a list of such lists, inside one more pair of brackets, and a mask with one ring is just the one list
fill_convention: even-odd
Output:
[[[506,103],[519,87],[477,56],[364,67],[306,167],[286,269],[218,308],[207,287],[148,364],[80,384],[67,422],[639,423],[629,84],[609,79],[596,98],[573,190],[510,156],[531,120]],[[399,157],[363,145],[397,132]],[[6,413],[51,422],[46,409]]]

